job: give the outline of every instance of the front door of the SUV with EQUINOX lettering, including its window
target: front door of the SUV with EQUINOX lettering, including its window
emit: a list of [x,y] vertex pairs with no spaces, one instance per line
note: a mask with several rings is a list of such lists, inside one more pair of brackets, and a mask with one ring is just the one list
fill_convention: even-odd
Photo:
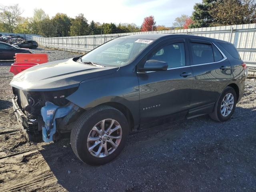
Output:
[[169,40],[156,46],[139,64],[140,68],[147,60],[167,62],[168,70],[137,72],[141,123],[186,112],[190,106],[193,74],[184,39]]

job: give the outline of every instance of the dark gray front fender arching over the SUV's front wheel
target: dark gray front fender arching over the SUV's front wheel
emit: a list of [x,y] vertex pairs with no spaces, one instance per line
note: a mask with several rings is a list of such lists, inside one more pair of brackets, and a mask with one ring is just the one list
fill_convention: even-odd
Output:
[[130,110],[134,124],[139,124],[139,86],[136,74],[126,75],[119,70],[114,74],[85,80],[66,99],[85,110],[107,102],[122,104]]

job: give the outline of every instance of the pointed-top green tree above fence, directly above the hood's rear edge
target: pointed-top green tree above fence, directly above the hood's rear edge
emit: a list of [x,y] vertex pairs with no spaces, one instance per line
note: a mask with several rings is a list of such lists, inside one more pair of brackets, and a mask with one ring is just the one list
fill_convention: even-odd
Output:
[[70,26],[70,35],[88,35],[89,34],[89,25],[87,19],[84,17],[84,14],[79,14],[74,20],[71,21]]

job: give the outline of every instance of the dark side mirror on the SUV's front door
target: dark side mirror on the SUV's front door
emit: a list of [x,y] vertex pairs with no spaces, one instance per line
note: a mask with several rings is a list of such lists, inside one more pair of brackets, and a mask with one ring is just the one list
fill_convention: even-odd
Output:
[[144,68],[139,69],[140,71],[165,71],[168,68],[167,62],[159,60],[147,60]]

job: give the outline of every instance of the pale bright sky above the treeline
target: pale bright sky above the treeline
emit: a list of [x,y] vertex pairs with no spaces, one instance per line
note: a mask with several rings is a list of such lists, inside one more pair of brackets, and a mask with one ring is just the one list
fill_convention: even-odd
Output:
[[153,15],[157,25],[172,26],[181,14],[191,15],[193,6],[201,0],[11,0],[3,5],[19,4],[22,16],[33,15],[34,8],[42,8],[50,17],[65,13],[75,17],[83,13],[90,22],[135,23],[141,25],[146,16]]

